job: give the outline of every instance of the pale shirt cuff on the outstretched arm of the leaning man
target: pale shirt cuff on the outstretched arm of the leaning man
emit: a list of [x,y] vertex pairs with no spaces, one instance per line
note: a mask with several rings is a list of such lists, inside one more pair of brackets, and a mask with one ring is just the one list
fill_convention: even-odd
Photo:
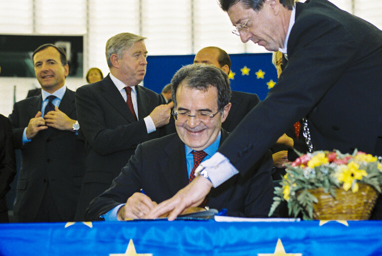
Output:
[[208,177],[214,187],[228,180],[239,171],[230,163],[230,160],[220,152],[216,152],[210,159],[199,164],[207,170]]

